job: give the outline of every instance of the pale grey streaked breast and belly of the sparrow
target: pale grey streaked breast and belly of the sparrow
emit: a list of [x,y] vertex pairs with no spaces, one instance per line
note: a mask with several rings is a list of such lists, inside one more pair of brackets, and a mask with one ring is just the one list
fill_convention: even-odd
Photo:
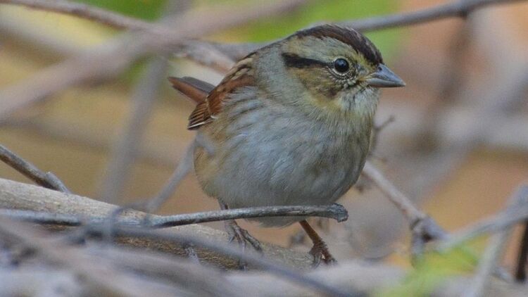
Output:
[[196,151],[196,174],[232,208],[333,203],[356,182],[370,140],[335,125],[239,98],[201,129],[216,147]]

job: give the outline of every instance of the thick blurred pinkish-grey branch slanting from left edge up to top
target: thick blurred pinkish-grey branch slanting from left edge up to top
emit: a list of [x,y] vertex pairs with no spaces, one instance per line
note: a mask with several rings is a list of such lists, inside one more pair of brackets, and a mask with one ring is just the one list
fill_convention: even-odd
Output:
[[271,4],[227,6],[189,11],[168,18],[165,25],[156,23],[143,30],[96,47],[82,56],[70,58],[38,72],[23,82],[0,91],[0,121],[25,106],[42,101],[51,94],[81,82],[113,77],[137,58],[148,53],[168,51],[189,37],[203,36],[258,18],[291,11],[306,0],[274,1]]

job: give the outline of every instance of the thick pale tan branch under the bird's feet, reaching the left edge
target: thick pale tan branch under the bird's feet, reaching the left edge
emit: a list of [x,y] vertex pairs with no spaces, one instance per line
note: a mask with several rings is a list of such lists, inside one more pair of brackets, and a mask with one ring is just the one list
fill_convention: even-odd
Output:
[[[63,194],[58,191],[51,191],[42,187],[35,187],[31,184],[23,184],[20,182],[13,182],[7,179],[0,179],[0,208],[10,208],[19,210],[33,210],[45,213],[57,213],[63,215],[75,215],[79,218],[84,217],[101,217],[107,218],[111,215],[118,206],[95,201],[90,198]],[[136,210],[127,210],[120,215],[122,220],[136,220],[143,222],[144,217],[148,214]],[[155,218],[156,215],[150,215]],[[225,232],[212,229],[203,225],[184,225],[179,227],[171,227],[164,230],[165,232],[177,232],[179,234],[193,234],[195,236],[202,236],[207,239],[214,239],[215,241],[225,241],[228,236]],[[181,246],[168,244],[160,241],[149,240],[135,240],[130,238],[118,238],[120,244],[134,247],[155,247],[159,251],[167,253],[187,255]],[[267,258],[272,258],[284,265],[298,268],[308,268],[312,264],[312,258],[308,253],[293,251],[288,248],[282,248],[272,244],[261,243],[263,246],[263,254]],[[220,267],[236,268],[237,261],[232,258],[227,258],[218,253],[199,249],[196,246],[196,253],[198,253],[201,260],[213,263]]]

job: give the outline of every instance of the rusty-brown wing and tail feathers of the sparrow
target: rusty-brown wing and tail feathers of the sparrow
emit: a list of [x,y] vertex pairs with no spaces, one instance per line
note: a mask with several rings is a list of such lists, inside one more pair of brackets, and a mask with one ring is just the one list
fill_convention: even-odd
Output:
[[200,126],[210,122],[215,115],[222,110],[222,103],[234,90],[240,87],[254,85],[253,70],[251,68],[253,58],[250,56],[239,61],[227,72],[218,86],[212,88],[211,84],[196,80],[192,77],[170,77],[172,86],[181,91],[193,101],[198,102],[196,108],[189,116],[188,129],[198,129]]

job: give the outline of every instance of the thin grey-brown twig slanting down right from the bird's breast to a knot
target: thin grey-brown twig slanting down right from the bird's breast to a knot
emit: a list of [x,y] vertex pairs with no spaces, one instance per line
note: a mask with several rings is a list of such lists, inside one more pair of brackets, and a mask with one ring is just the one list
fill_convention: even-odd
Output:
[[363,175],[372,180],[377,187],[401,210],[407,218],[410,229],[413,232],[412,249],[413,255],[422,253],[425,243],[432,239],[445,239],[447,233],[431,217],[422,213],[401,191],[386,179],[370,161],[365,163]]

